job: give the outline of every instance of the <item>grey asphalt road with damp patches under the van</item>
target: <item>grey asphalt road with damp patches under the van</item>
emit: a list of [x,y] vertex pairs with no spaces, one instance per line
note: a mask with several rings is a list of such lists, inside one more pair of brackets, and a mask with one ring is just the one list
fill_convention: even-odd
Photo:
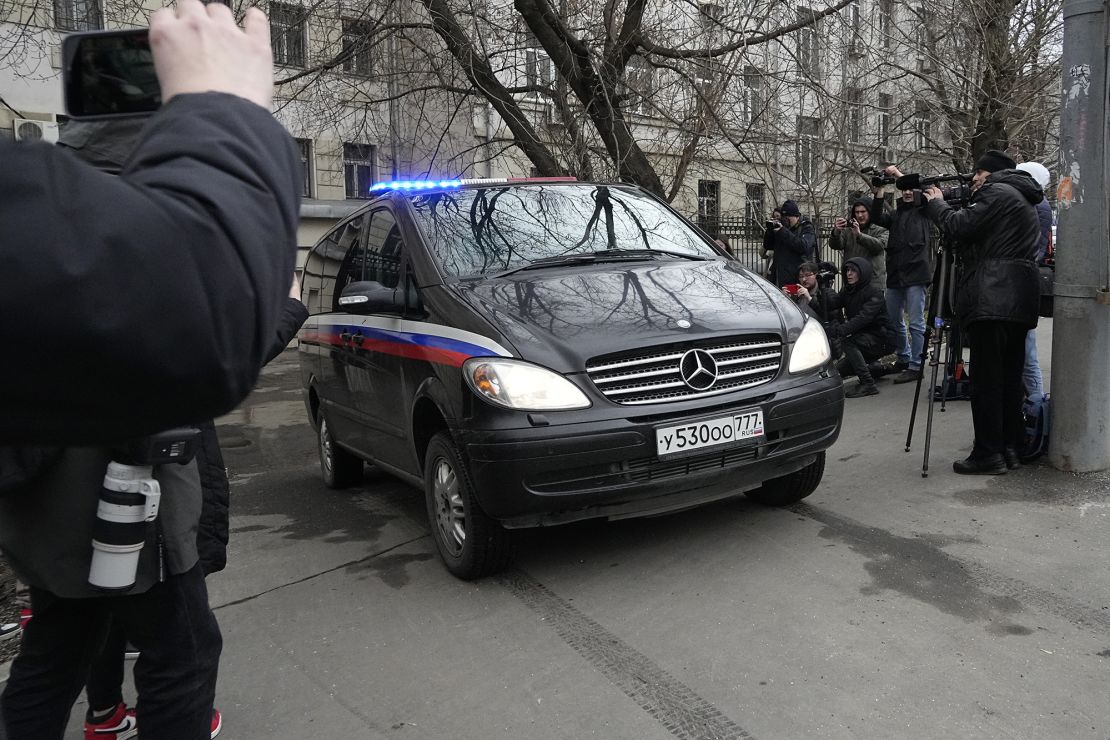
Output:
[[323,487],[286,353],[220,422],[221,737],[1110,737],[1107,476],[957,476],[955,402],[922,478],[912,386],[880,389],[799,505],[531,531],[467,584],[420,491]]

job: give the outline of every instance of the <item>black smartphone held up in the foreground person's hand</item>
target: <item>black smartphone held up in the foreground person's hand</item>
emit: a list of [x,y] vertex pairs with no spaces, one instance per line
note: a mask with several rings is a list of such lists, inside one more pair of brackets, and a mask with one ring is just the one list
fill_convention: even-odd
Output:
[[62,41],[62,89],[72,119],[150,115],[162,104],[148,29],[71,33]]

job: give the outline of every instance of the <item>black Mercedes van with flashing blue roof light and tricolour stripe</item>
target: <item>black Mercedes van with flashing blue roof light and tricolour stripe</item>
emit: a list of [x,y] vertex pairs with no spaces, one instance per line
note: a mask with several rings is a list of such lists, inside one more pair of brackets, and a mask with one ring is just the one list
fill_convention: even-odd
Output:
[[632,185],[375,185],[302,290],[324,483],[422,487],[460,578],[515,528],[797,501],[840,432],[820,324]]

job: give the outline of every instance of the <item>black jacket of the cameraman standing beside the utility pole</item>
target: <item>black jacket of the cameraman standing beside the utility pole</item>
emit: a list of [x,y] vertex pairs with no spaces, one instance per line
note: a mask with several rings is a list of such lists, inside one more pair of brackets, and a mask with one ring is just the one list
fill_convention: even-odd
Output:
[[1035,205],[1040,185],[1020,170],[992,173],[959,211],[930,201],[929,216],[955,240],[962,260],[956,277],[956,315],[965,326],[980,321],[1037,326],[1041,233]]

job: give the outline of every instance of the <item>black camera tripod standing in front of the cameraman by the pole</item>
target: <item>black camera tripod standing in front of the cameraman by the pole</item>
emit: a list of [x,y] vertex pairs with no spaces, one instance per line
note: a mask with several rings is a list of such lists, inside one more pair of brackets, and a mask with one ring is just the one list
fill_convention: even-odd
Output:
[[[940,401],[940,412],[944,413],[950,392],[953,397],[962,394],[967,387],[967,375],[963,373],[963,349],[959,331],[950,320],[950,294],[956,284],[956,263],[951,257],[952,250],[941,242],[937,250],[937,262],[932,273],[932,290],[929,294],[929,313],[925,323],[925,343],[921,347],[922,372],[914,388],[914,407],[909,415],[909,429],[906,433],[906,452],[914,440],[914,424],[917,420],[917,407],[921,397],[921,381],[925,377],[925,361],[929,359],[929,412],[925,425],[925,455],[921,460],[921,477],[929,477],[929,447],[932,442],[932,409],[935,402]],[[944,363],[941,363],[944,348]],[[940,365],[945,366],[944,384],[937,385]],[[938,389],[939,388],[939,389]]]

